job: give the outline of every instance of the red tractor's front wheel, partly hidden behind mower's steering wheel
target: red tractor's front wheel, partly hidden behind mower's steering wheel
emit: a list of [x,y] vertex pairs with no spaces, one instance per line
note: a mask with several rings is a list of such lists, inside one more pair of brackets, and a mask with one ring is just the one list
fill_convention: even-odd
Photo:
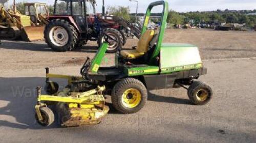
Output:
[[[122,34],[116,30],[115,28],[106,28],[103,30],[103,33],[106,35],[110,36],[111,38],[115,40],[109,40],[109,47],[106,50],[107,53],[116,53],[118,49],[121,49],[123,46],[123,36]],[[104,36],[101,35],[100,38],[98,39],[98,46],[100,46],[103,42],[105,41]]]

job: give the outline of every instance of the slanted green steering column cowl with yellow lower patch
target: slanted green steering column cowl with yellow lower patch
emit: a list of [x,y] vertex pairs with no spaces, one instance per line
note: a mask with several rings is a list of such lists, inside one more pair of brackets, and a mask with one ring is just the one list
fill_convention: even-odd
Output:
[[101,44],[98,52],[94,56],[94,59],[92,60],[90,71],[92,73],[97,73],[100,67],[100,64],[102,62],[102,59],[105,55],[106,49],[109,47],[109,44],[104,42]]

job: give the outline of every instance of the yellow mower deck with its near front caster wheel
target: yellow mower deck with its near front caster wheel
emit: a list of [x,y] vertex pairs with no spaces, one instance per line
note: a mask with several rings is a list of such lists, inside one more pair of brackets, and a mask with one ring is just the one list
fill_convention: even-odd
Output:
[[[105,105],[104,96],[100,94],[105,87],[97,87],[95,90],[83,93],[71,93],[69,89],[64,89],[55,97],[41,95],[40,89],[40,87],[37,88],[38,104],[35,109],[36,120],[42,126],[51,125],[54,116],[51,109],[41,101],[55,103],[57,122],[62,127],[98,124],[109,111],[109,107]],[[42,109],[47,109],[48,112]]]

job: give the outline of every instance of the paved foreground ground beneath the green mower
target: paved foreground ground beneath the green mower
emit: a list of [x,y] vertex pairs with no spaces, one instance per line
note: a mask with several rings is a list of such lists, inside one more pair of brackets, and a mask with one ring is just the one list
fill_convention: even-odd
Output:
[[[35,122],[35,87],[44,86],[44,70],[0,73],[0,142],[255,142],[255,60],[204,65],[208,74],[200,80],[214,89],[207,105],[191,104],[182,88],[148,91],[141,111],[121,115],[109,104],[111,111],[102,123],[75,128],[44,128]],[[78,75],[79,68],[50,72]]]

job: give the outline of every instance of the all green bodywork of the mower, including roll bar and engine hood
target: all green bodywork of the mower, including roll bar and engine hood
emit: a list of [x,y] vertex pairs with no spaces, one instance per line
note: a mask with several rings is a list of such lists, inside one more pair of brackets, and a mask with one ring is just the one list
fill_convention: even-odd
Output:
[[[166,26],[166,19],[168,15],[168,3],[167,1],[157,1],[151,3],[146,11],[145,21],[142,27],[142,34],[147,30],[147,24],[150,19],[151,10],[155,6],[163,6],[161,27],[159,31],[158,41],[156,48],[150,58],[148,65],[145,66],[126,66],[122,65],[123,73],[126,76],[138,76],[149,74],[166,74],[191,69],[202,68],[202,61],[200,58],[199,50],[196,46],[190,44],[165,44],[162,43],[164,30]],[[108,43],[104,42],[99,48],[98,53],[92,61],[90,71],[97,73],[101,64],[102,58],[105,55]],[[160,56],[159,56],[160,55]],[[159,56],[159,65],[156,66],[155,61]],[[122,60],[122,58],[120,57]],[[119,56],[115,56],[115,65],[119,66]]]

